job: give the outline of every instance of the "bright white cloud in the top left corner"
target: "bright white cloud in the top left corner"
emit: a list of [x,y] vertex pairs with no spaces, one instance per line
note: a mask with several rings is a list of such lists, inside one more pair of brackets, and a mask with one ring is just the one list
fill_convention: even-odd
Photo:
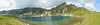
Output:
[[15,9],[14,0],[0,0],[0,11]]

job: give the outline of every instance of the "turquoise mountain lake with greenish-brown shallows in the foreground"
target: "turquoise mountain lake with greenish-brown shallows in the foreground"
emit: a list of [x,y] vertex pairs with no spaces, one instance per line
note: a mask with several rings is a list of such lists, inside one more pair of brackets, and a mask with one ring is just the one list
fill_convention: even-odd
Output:
[[80,22],[82,18],[69,16],[50,16],[50,17],[24,17],[19,20],[34,25],[73,25]]

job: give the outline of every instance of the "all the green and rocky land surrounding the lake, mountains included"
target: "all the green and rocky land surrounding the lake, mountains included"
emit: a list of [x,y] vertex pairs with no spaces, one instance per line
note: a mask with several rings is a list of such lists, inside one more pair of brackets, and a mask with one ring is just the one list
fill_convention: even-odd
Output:
[[100,25],[100,12],[90,11],[84,7],[76,7],[73,4],[67,5],[65,2],[50,10],[43,8],[26,7],[23,9],[1,11],[0,25],[25,25],[25,23],[20,22],[18,18],[43,16],[84,17],[85,20],[82,21],[82,23],[77,23],[75,25]]

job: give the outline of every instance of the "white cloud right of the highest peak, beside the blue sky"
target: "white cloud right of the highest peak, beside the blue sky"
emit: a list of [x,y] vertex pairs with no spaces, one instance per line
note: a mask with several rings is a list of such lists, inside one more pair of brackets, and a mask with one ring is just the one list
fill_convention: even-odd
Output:
[[[88,8],[89,10],[95,10],[95,6],[94,6],[94,3],[95,3],[95,0],[67,0],[66,2],[68,5],[69,4],[75,4],[76,6],[79,6],[79,7],[85,7],[85,8]],[[84,6],[83,6],[84,5]]]

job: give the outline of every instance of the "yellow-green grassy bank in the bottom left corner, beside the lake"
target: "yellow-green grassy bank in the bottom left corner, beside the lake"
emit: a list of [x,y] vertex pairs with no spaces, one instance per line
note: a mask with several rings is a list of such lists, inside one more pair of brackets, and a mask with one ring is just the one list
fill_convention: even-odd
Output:
[[17,18],[14,17],[0,16],[0,25],[26,25],[26,24],[18,21]]

